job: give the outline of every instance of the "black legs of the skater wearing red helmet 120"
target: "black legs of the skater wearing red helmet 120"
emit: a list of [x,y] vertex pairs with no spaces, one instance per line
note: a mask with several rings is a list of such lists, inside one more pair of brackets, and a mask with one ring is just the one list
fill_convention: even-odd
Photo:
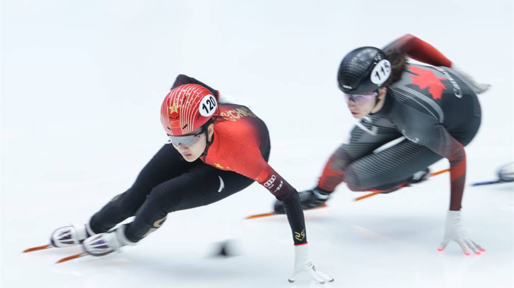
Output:
[[[269,144],[262,156],[269,158]],[[91,217],[95,233],[103,233],[128,217],[126,237],[137,242],[160,227],[170,212],[207,205],[253,183],[241,174],[216,169],[200,159],[187,162],[172,145],[164,145],[139,173],[133,186],[115,196]]]

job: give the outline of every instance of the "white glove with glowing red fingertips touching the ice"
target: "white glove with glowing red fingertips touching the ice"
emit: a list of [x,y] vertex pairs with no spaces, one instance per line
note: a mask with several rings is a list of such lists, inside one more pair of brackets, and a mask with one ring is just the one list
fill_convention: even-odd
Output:
[[446,215],[445,238],[437,250],[443,251],[446,245],[448,245],[448,242],[455,241],[461,246],[466,256],[470,254],[468,247],[473,250],[475,254],[480,254],[481,251],[484,252],[484,248],[469,239],[468,233],[462,226],[461,211],[448,211]]

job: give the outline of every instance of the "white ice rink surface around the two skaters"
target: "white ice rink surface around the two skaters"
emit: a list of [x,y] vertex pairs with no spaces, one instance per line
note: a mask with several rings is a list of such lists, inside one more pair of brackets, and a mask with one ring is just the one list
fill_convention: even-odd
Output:
[[[467,183],[514,158],[512,1],[2,1],[0,286],[317,287],[289,284],[285,216],[258,184],[176,212],[122,253],[22,254],[63,224],[84,222],[131,186],[166,141],[163,97],[187,74],[264,119],[270,164],[295,188],[315,185],[354,124],[336,86],[341,58],[411,33],[492,88],[466,148]],[[458,111],[455,111],[458,113]],[[433,171],[448,167],[446,160]],[[514,184],[467,186],[463,221],[487,249],[443,252],[448,174],[359,202],[341,184],[305,213],[309,254],[325,287],[513,287]],[[237,256],[212,257],[230,241]]]

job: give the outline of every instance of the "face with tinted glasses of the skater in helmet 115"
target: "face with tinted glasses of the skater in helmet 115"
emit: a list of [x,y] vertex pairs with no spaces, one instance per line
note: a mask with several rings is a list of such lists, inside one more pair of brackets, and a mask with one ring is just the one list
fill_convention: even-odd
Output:
[[377,92],[367,94],[344,94],[344,98],[346,99],[348,110],[350,110],[352,116],[356,119],[360,119],[370,113],[376,113],[382,108],[386,91],[387,88],[381,88]]

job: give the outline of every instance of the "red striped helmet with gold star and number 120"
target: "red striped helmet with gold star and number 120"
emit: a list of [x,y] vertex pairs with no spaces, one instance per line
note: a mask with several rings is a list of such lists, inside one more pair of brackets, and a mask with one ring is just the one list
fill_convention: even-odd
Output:
[[185,84],[175,87],[161,105],[162,128],[167,134],[188,134],[218,113],[216,98],[205,87]]

